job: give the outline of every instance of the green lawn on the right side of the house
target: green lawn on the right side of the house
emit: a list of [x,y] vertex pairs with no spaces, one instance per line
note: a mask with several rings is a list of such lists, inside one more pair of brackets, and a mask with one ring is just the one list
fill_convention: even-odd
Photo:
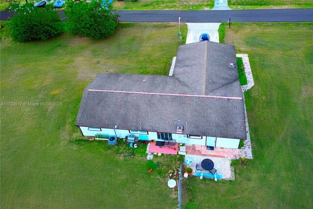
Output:
[[313,23],[222,25],[247,53],[245,93],[253,160],[235,181],[184,181],[187,208],[313,208]]

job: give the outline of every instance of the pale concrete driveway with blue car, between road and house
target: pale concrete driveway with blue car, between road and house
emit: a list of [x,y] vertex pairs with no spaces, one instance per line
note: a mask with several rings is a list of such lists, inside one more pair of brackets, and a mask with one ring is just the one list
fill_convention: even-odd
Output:
[[186,24],[188,25],[186,44],[199,42],[199,37],[201,33],[208,33],[211,42],[219,43],[218,30],[221,23],[186,23]]

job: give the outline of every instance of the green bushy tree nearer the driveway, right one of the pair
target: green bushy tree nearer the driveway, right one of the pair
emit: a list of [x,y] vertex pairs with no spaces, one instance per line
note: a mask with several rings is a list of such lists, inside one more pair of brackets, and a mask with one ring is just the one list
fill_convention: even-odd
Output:
[[119,18],[119,14],[113,14],[111,10],[110,4],[103,4],[99,0],[69,0],[65,11],[67,31],[93,39],[106,38],[114,33]]

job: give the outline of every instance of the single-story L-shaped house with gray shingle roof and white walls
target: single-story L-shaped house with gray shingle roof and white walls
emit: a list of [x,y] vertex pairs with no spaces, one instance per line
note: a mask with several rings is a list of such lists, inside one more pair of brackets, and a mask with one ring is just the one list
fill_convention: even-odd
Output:
[[172,67],[169,76],[99,74],[83,93],[76,126],[84,136],[238,148],[246,122],[235,47],[181,45]]

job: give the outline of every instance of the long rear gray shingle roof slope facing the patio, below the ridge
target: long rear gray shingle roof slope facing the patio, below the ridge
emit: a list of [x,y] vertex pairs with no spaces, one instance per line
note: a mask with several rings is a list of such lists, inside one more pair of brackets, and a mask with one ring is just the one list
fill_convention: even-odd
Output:
[[180,120],[183,134],[246,139],[243,99],[96,91],[84,98],[78,126],[176,133]]

